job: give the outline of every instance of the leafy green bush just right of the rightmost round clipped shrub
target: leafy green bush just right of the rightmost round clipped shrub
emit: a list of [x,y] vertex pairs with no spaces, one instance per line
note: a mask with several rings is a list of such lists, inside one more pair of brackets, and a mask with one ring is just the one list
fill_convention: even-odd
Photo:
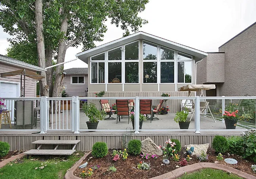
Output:
[[241,136],[231,136],[227,138],[228,152],[236,155],[244,154],[244,140]]

